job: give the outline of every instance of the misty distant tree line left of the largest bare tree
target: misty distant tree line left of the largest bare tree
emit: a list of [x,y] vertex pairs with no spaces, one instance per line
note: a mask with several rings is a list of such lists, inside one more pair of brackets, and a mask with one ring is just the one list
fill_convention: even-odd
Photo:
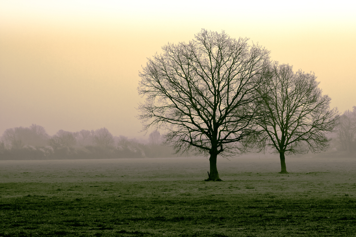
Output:
[[113,136],[108,129],[59,130],[48,135],[43,126],[32,124],[9,128],[0,137],[0,160],[57,160],[104,158],[174,157],[162,144],[159,131],[149,135],[147,144],[126,136]]

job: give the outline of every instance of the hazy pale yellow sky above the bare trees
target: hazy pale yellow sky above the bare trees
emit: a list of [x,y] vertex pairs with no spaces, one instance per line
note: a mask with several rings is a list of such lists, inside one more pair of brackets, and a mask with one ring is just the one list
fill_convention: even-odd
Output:
[[[122,1],[124,2],[124,1]],[[141,136],[138,71],[201,28],[249,37],[271,58],[314,71],[331,106],[356,105],[351,1],[0,1],[0,135],[106,127]]]

